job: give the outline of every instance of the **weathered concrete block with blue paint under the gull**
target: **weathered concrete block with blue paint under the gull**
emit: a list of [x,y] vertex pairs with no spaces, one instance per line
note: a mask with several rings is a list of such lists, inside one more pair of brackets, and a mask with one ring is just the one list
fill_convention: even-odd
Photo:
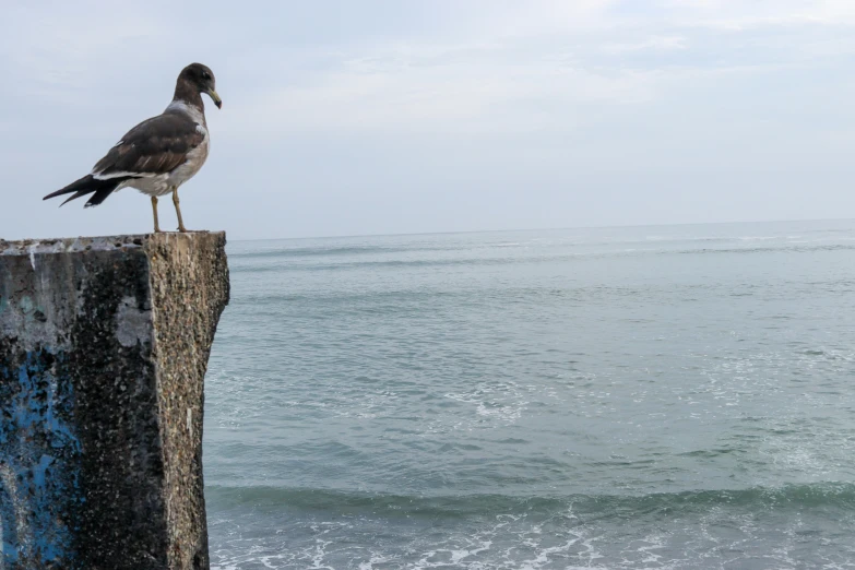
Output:
[[209,568],[224,234],[0,240],[0,569]]

